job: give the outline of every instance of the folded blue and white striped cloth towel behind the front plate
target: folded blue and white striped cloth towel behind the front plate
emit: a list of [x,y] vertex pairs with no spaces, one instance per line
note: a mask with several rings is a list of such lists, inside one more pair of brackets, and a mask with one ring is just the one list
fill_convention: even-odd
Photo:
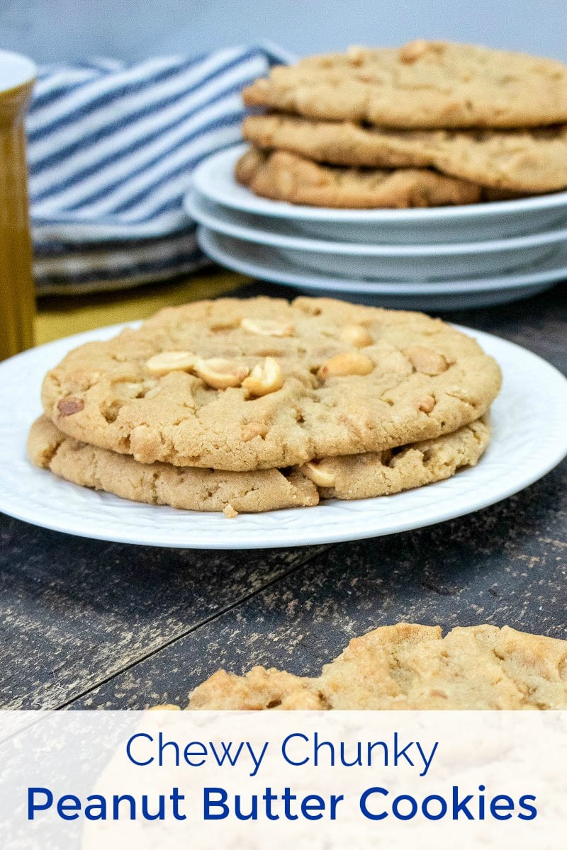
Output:
[[136,286],[207,262],[182,205],[191,170],[241,138],[241,89],[288,59],[265,45],[43,68],[26,124],[37,292]]

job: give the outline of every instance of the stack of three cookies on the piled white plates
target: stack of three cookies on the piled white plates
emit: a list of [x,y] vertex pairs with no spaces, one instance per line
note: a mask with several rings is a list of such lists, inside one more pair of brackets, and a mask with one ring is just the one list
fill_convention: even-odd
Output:
[[318,207],[439,207],[567,187],[567,67],[451,42],[350,48],[244,92],[236,179]]

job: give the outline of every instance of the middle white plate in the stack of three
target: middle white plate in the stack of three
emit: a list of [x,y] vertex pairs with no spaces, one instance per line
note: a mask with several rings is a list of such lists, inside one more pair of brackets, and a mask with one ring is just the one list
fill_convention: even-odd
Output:
[[[328,275],[352,275],[372,280],[444,280],[496,275],[550,256],[567,241],[567,229],[548,230],[490,242],[450,242],[445,245],[371,245],[333,242],[280,233],[273,220],[232,212],[207,201],[196,190],[184,197],[191,218],[228,236],[275,247],[292,263]],[[276,223],[277,227],[277,223]],[[289,231],[289,228],[286,228]]]

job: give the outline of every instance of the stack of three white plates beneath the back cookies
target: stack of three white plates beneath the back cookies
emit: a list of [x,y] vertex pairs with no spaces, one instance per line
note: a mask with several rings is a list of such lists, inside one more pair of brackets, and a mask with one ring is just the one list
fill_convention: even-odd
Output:
[[567,192],[431,209],[305,207],[237,184],[243,150],[203,161],[185,198],[201,248],[230,269],[410,309],[505,303],[567,278]]

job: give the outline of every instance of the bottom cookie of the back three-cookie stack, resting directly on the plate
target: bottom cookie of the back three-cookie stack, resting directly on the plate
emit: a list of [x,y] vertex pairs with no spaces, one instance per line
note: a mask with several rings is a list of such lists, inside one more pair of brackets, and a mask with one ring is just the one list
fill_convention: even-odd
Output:
[[235,178],[256,195],[315,207],[444,207],[482,200],[479,186],[427,168],[343,168],[285,150],[247,150]]

